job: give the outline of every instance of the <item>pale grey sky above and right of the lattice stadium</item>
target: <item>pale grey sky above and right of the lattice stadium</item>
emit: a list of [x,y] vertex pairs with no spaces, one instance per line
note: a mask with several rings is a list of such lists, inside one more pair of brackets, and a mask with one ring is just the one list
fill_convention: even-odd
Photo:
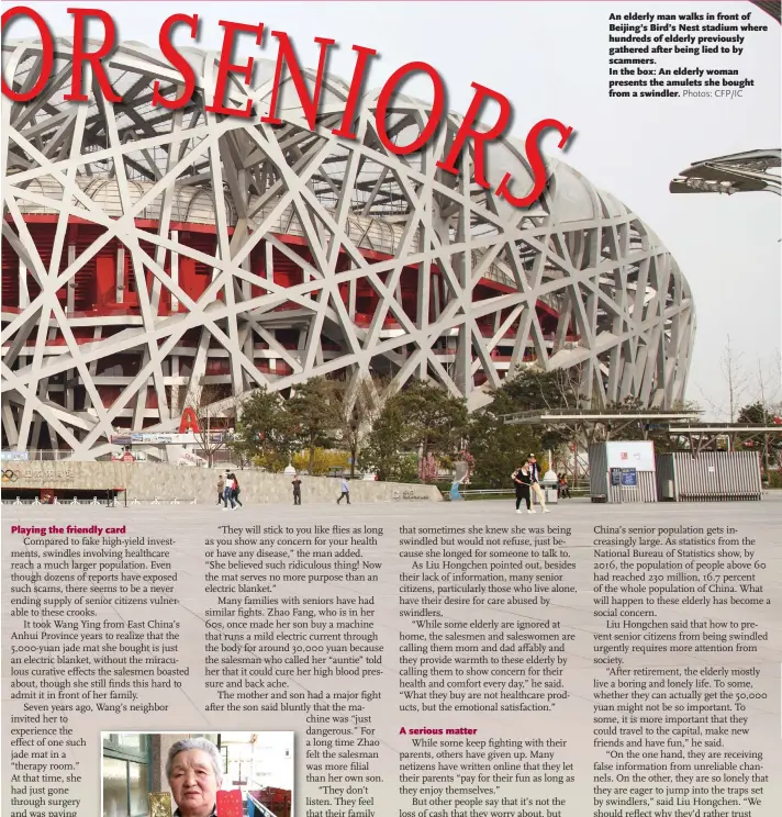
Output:
[[[30,2],[54,34],[68,34],[69,2]],[[2,3],[3,8],[10,3]],[[83,3],[88,8],[89,3]],[[445,80],[449,107],[465,113],[476,81],[513,103],[513,134],[526,136],[540,119],[572,125],[578,137],[562,158],[597,188],[633,208],[679,261],[695,298],[699,332],[688,396],[712,416],[727,405],[720,357],[727,335],[740,365],[757,369],[782,348],[782,223],[780,198],[770,193],[671,195],[670,179],[692,161],[778,148],[780,123],[780,26],[749,2],[105,2],[123,41],[157,46],[172,13],[201,16],[201,47],[219,48],[223,19],[262,22],[287,32],[303,64],[314,66],[315,36],[339,45],[329,72],[353,76],[354,44],[376,48],[368,87],[378,87],[413,60],[433,65]],[[768,33],[749,34],[738,58],[691,57],[688,65],[737,67],[756,80],[742,99],[637,99],[607,97],[608,14],[627,11],[679,13],[696,10],[752,12]],[[22,23],[12,36],[31,33]],[[268,36],[268,35],[267,35]],[[249,41],[249,37],[245,37]],[[185,43],[183,40],[177,42]],[[266,44],[268,41],[265,40]],[[273,41],[272,41],[273,42]],[[252,46],[255,49],[255,46]],[[247,53],[248,48],[243,48]],[[257,52],[253,52],[257,53]],[[258,56],[273,58],[271,46]],[[431,98],[425,81],[405,92]],[[559,156],[558,136],[545,150]],[[756,396],[752,376],[742,402]],[[717,406],[717,410],[712,406]],[[723,417],[727,418],[727,417]]]

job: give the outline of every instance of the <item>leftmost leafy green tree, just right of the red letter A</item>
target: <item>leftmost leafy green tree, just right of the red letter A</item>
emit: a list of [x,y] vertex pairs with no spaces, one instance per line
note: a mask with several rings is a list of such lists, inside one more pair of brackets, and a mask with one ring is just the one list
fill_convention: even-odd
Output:
[[282,470],[295,443],[297,426],[280,394],[266,387],[255,389],[244,403],[231,449],[248,459],[260,459],[269,470]]

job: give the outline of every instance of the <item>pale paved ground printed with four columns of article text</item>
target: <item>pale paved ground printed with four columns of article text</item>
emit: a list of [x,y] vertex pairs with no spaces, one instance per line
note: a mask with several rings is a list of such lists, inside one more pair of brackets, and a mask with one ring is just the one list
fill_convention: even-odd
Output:
[[12,506],[2,814],[292,731],[299,817],[771,817],[782,502],[705,507]]

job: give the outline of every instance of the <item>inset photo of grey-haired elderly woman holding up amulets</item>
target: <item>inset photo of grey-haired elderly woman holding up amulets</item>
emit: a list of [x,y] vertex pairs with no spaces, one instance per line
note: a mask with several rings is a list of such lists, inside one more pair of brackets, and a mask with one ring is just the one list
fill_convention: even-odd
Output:
[[104,732],[103,817],[292,817],[293,732]]

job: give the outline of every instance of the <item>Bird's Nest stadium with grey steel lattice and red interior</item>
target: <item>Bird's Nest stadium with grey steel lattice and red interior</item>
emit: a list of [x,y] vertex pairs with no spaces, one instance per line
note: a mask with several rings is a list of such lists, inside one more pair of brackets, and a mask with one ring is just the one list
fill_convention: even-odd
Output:
[[[121,104],[72,103],[70,42],[55,43],[45,92],[3,99],[3,448],[94,459],[118,434],[176,430],[205,387],[214,417],[314,376],[426,379],[472,407],[524,366],[572,372],[585,404],[683,396],[686,280],[632,210],[566,164],[548,160],[543,197],[518,210],[474,183],[471,147],[458,176],[436,167],[456,113],[407,156],[377,136],[377,92],[356,141],[332,133],[348,93],[333,77],[314,131],[290,79],[281,125],[217,116],[204,105],[220,56],[198,49],[191,102],[153,108],[154,81],[174,93],[181,78],[135,43],[105,63]],[[24,88],[40,55],[36,41],[4,43],[7,81]],[[230,99],[266,112],[273,69],[256,60]],[[407,144],[429,111],[396,96],[387,131]],[[510,171],[532,189],[515,139],[488,145],[487,164],[493,188]]]

